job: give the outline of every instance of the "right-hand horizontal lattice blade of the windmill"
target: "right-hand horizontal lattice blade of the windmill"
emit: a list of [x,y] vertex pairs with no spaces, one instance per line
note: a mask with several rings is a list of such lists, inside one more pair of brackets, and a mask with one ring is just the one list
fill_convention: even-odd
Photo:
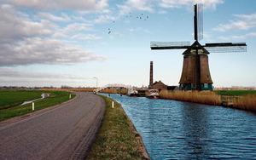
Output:
[[202,46],[210,53],[246,52],[246,43],[206,43]]

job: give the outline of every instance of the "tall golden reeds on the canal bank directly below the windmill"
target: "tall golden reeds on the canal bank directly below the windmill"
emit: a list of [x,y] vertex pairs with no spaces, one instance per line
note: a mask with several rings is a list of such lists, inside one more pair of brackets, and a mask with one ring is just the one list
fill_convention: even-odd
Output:
[[160,98],[168,100],[181,100],[207,105],[220,105],[221,97],[215,92],[210,91],[168,91],[161,90]]

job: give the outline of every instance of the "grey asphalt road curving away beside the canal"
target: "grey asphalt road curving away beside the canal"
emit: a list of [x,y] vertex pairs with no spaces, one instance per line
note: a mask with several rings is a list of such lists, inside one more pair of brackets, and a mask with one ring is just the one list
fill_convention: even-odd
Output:
[[73,100],[0,123],[1,159],[83,159],[102,123],[100,96]]

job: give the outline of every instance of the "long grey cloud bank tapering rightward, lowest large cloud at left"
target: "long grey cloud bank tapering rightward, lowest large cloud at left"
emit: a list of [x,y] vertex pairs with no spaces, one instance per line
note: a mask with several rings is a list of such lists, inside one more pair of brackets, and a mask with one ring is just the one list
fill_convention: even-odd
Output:
[[107,57],[84,51],[77,47],[67,47],[60,40],[44,37],[28,37],[23,41],[0,45],[0,66],[20,66],[32,64],[73,65],[93,60],[107,60]]

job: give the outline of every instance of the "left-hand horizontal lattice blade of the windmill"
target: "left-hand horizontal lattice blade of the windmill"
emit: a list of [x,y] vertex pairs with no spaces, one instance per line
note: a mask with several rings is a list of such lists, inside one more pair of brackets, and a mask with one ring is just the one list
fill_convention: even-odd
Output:
[[150,42],[151,49],[188,49],[190,42]]

